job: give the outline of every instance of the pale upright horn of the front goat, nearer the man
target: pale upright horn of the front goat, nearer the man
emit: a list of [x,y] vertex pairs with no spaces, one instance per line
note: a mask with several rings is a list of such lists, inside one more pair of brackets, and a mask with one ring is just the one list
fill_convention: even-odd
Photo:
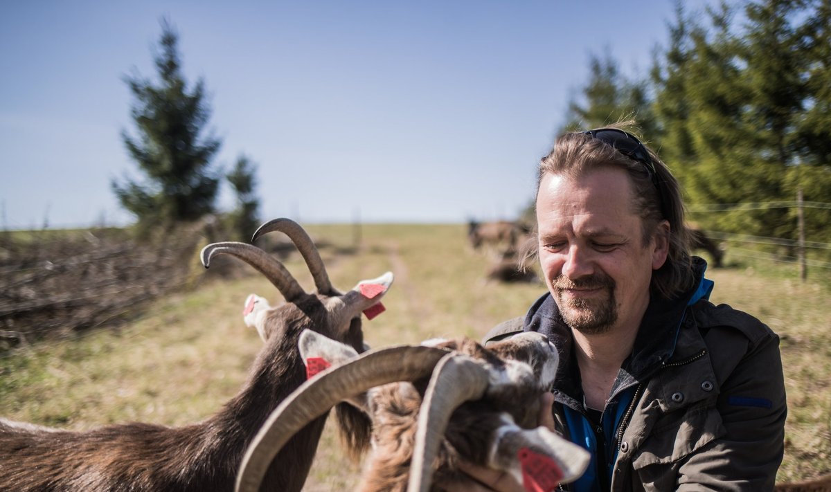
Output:
[[470,357],[450,353],[436,364],[419,411],[407,492],[430,490],[433,462],[450,416],[465,401],[479,400],[487,389],[488,371]]

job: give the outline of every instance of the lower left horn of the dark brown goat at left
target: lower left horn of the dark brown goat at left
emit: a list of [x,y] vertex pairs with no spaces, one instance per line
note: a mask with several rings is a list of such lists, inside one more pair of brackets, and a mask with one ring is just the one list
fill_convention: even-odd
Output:
[[297,283],[297,280],[292,277],[292,274],[288,273],[288,270],[283,267],[283,263],[278,262],[256,246],[233,241],[209,244],[202,248],[199,258],[202,260],[204,267],[209,268],[211,258],[217,254],[230,254],[256,268],[259,273],[263,273],[268,278],[269,282],[273,283],[274,287],[283,294],[283,298],[286,298],[288,302],[292,302],[306,293]]

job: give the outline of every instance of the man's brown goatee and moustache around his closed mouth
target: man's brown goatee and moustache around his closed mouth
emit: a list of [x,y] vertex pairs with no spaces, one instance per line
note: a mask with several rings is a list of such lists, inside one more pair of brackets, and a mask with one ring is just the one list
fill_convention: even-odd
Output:
[[[551,285],[560,316],[574,330],[584,335],[599,335],[608,332],[617,322],[615,281],[606,274],[596,273],[577,280],[558,275]],[[566,298],[563,289],[568,288],[601,288],[606,296],[591,299]]]

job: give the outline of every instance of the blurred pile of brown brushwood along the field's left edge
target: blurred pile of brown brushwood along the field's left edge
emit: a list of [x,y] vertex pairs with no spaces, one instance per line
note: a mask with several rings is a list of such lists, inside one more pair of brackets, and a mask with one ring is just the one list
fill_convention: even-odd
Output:
[[0,234],[0,352],[135,316],[201,274],[201,234],[137,242],[122,229]]

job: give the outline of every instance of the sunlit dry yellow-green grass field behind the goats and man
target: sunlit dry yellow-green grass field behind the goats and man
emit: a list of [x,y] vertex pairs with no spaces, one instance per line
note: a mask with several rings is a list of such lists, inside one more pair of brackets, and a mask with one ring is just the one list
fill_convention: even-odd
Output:
[[[484,282],[486,258],[465,244],[462,225],[309,226],[333,283],[351,288],[391,270],[387,312],[364,322],[373,347],[428,337],[481,337],[524,314],[542,284]],[[233,258],[231,261],[234,261]],[[285,263],[312,288],[298,255]],[[730,258],[728,256],[728,262]],[[253,272],[253,270],[251,270]],[[782,337],[789,416],[779,480],[831,470],[831,307],[828,283],[799,283],[766,265],[711,270],[711,300],[755,314]],[[180,425],[208,416],[238,390],[261,347],[242,320],[258,293],[282,299],[256,274],[162,298],[129,327],[49,342],[0,358],[0,416],[70,429],[122,421]],[[760,375],[764,377],[764,375]],[[359,465],[341,458],[327,427],[307,490],[350,490]]]

